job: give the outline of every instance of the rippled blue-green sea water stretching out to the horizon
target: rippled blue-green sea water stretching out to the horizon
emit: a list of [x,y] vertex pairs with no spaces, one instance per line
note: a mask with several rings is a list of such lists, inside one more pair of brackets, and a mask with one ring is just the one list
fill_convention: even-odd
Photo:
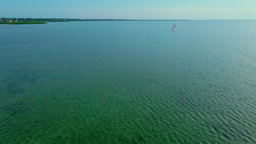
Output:
[[256,143],[256,20],[0,26],[0,63],[0,144]]

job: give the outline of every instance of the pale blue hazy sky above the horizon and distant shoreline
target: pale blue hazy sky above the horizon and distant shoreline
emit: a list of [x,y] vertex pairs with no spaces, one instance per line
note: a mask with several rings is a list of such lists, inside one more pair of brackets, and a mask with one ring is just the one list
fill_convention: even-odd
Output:
[[255,20],[256,0],[0,0],[0,17]]

